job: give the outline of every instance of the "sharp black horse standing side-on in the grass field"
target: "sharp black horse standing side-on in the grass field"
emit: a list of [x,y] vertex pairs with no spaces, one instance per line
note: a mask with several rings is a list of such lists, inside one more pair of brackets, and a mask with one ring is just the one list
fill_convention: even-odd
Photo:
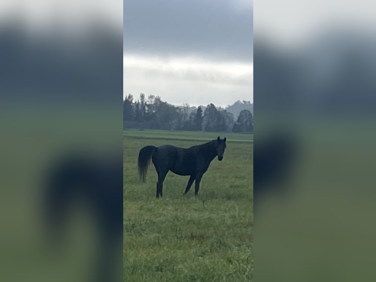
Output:
[[202,175],[208,170],[215,156],[222,161],[225,148],[226,137],[220,139],[219,136],[216,140],[188,149],[171,145],[143,147],[138,154],[140,180],[145,182],[146,172],[152,159],[158,173],[157,198],[162,197],[162,184],[169,170],[178,175],[190,175],[184,195],[196,180],[194,195],[197,196]]

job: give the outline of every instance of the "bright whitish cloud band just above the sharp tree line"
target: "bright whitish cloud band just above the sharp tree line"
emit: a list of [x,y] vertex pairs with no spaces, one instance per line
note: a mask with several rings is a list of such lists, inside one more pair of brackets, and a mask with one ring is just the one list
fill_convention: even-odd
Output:
[[159,95],[172,104],[226,106],[253,100],[253,63],[197,57],[123,57],[124,95]]

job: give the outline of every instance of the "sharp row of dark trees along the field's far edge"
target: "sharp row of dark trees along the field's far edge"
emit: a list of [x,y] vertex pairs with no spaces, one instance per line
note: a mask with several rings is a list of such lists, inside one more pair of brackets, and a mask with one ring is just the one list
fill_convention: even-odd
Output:
[[209,104],[204,110],[201,106],[189,107],[184,104],[176,107],[161,100],[160,96],[141,93],[135,100],[132,94],[123,101],[123,126],[139,129],[191,130],[253,132],[253,115],[242,110],[237,119],[221,107]]

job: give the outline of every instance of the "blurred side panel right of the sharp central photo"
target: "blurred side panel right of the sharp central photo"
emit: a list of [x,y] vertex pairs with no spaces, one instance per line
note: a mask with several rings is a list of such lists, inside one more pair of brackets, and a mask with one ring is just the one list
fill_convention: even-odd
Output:
[[256,3],[255,281],[376,279],[372,5]]

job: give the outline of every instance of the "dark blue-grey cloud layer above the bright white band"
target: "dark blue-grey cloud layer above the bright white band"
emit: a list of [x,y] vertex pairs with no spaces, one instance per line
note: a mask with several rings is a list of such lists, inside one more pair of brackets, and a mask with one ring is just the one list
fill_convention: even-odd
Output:
[[126,0],[124,52],[252,61],[252,6],[252,0]]

